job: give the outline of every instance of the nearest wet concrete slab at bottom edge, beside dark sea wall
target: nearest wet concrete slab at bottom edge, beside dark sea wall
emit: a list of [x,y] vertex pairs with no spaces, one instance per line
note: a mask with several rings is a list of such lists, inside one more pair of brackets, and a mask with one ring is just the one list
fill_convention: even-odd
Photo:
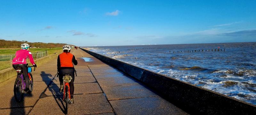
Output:
[[118,115],[187,115],[160,97],[145,97],[110,101]]

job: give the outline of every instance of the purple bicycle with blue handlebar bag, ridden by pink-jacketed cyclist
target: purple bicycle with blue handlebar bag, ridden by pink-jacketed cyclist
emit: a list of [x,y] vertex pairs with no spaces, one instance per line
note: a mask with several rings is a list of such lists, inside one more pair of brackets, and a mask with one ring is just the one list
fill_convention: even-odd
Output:
[[[28,66],[28,83],[29,83],[28,94],[30,94],[33,90],[33,77],[31,74],[32,67],[34,67],[34,71],[36,71],[35,66]],[[17,78],[14,83],[13,92],[14,92],[15,100],[17,102],[20,102],[23,99],[23,95],[25,93],[26,83],[25,83],[22,67],[17,67],[16,72],[17,72]]]

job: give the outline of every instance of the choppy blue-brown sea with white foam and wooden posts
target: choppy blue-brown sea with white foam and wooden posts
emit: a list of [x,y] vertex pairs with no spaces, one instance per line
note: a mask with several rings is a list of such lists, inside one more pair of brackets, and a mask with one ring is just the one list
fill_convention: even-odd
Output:
[[256,105],[256,42],[86,48]]

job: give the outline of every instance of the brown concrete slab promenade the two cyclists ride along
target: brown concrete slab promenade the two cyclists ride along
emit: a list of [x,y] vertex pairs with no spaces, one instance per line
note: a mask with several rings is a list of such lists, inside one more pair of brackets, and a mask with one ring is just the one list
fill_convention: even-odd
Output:
[[[158,96],[150,88],[117,69],[92,57],[83,50],[72,50],[75,65],[75,104],[68,114],[95,115],[185,115],[188,114]],[[91,61],[85,61],[87,57]],[[15,78],[0,84],[0,114],[64,114],[62,93],[59,92],[57,58],[40,65],[32,72],[34,89],[22,103],[13,96]]]

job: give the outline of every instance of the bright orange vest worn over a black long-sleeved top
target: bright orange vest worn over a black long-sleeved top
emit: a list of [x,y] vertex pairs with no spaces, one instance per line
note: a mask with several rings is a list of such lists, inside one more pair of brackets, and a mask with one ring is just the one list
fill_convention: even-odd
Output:
[[60,55],[60,67],[74,67],[72,63],[73,54],[71,53],[61,53]]

